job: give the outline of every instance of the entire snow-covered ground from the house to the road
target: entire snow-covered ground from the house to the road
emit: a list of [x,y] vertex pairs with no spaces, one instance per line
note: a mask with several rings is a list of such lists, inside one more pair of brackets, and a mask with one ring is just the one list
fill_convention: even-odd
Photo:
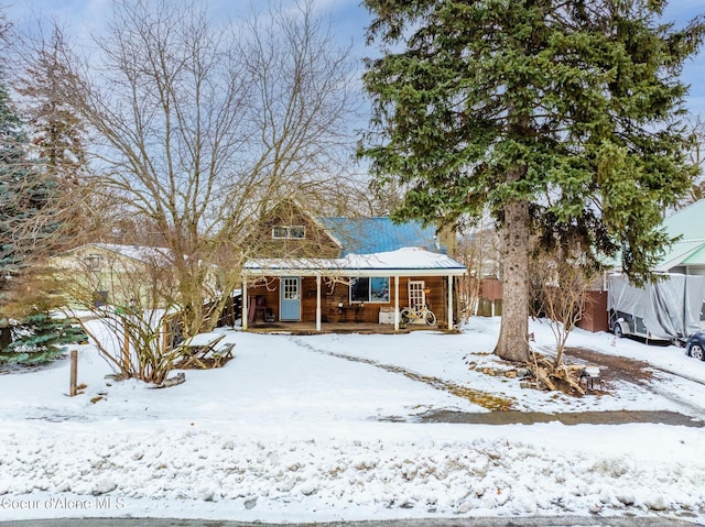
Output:
[[[96,322],[98,323],[98,322]],[[84,393],[67,360],[0,375],[0,520],[152,516],[326,521],[531,515],[705,520],[705,429],[662,424],[420,422],[486,413],[671,410],[705,419],[705,363],[674,348],[576,330],[568,345],[648,361],[649,384],[571,398],[520,387],[491,352],[499,319],[462,334],[227,331],[235,359],[149,389],[105,378],[90,345]],[[550,352],[549,326],[533,321]],[[473,364],[473,369],[468,367]],[[479,394],[469,400],[449,387]]]

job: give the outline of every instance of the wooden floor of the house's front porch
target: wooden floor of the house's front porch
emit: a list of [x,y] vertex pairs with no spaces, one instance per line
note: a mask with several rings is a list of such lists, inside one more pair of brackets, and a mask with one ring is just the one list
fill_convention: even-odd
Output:
[[[247,330],[253,333],[292,333],[292,334],[312,334],[316,331],[315,322],[259,322],[249,323]],[[394,331],[393,323],[365,323],[365,322],[322,322],[321,333],[362,333],[362,334],[394,334],[410,333],[411,331],[443,331],[445,328],[440,326],[426,326],[412,323],[405,328]]]

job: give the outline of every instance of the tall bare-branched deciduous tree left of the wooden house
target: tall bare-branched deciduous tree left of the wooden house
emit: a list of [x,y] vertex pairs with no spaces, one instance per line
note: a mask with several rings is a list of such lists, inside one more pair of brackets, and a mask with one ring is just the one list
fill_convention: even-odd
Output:
[[237,28],[196,6],[116,1],[89,58],[64,46],[62,86],[99,139],[94,183],[172,255],[187,334],[215,323],[239,282],[251,222],[336,174],[354,110],[348,53],[313,2]]

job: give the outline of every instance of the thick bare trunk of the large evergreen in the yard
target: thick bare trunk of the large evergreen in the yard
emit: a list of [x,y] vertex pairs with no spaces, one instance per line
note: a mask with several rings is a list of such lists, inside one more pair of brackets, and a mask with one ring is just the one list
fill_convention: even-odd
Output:
[[501,228],[502,323],[495,354],[517,362],[529,361],[529,201],[511,201]]

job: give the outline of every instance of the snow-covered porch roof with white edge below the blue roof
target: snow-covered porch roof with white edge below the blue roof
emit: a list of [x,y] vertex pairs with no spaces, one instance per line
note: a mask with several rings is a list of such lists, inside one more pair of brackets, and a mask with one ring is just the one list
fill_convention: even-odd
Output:
[[340,259],[256,259],[245,265],[245,274],[299,275],[340,274],[360,276],[459,276],[465,266],[445,254],[421,248],[402,248],[372,254],[348,254]]

